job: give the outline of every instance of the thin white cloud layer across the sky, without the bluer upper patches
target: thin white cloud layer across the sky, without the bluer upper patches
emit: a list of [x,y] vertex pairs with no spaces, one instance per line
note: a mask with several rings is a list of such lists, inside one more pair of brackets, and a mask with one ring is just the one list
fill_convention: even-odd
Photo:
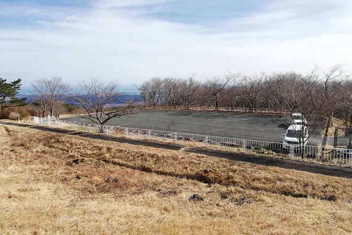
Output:
[[[297,1],[267,5],[256,14],[223,21],[219,29],[235,27],[226,33],[109,8],[160,1],[100,1],[91,9],[61,11],[56,20],[38,20],[35,27],[0,28],[0,77],[20,77],[25,85],[52,76],[71,84],[90,76],[139,83],[156,76],[196,74],[205,79],[228,71],[254,74],[308,71],[316,64],[352,65],[351,16],[341,2],[312,15],[296,9],[302,5],[289,7]],[[39,16],[42,11],[55,14],[57,8],[25,10]],[[237,30],[239,25],[245,27]]]

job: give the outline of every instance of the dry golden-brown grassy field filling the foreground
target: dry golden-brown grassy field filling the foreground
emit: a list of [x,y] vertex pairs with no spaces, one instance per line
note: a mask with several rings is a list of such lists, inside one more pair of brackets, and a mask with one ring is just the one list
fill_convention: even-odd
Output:
[[[0,125],[1,234],[350,234],[352,180]],[[203,200],[190,199],[194,194]]]

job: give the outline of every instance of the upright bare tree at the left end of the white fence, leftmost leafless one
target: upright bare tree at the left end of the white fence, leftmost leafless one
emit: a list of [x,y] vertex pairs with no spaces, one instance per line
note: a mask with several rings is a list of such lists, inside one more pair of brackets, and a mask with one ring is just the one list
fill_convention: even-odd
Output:
[[48,109],[51,116],[54,115],[56,102],[61,100],[69,90],[69,86],[62,82],[61,77],[38,79],[32,83],[32,87],[41,101],[40,106],[43,112],[45,113],[45,110]]

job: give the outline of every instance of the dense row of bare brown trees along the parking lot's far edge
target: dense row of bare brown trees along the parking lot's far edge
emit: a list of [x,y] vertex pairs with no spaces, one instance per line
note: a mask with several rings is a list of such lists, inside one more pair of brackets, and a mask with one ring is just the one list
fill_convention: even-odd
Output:
[[351,118],[352,80],[340,66],[309,74],[295,72],[245,76],[229,73],[204,82],[194,78],[151,78],[137,86],[150,107],[212,106],[287,110],[310,114],[314,119],[334,112]]

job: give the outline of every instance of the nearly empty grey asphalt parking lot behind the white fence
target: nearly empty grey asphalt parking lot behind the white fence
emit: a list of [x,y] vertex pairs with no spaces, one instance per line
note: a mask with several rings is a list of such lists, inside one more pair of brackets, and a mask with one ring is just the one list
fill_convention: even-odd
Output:
[[[90,123],[84,118],[62,120]],[[287,129],[285,118],[281,115],[163,110],[147,110],[131,118],[114,118],[107,124],[166,130],[170,121],[174,121],[170,131],[273,142],[282,142],[282,134]],[[321,136],[316,135],[311,137],[309,144],[320,143]]]

